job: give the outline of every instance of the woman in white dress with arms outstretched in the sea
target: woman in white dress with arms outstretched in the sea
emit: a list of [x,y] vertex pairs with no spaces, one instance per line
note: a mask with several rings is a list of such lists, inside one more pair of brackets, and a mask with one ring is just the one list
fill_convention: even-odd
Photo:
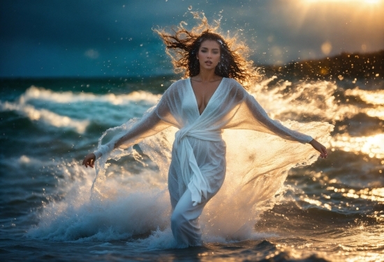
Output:
[[[173,33],[157,31],[163,38],[175,68],[184,69],[186,79],[172,84],[158,105],[121,137],[100,146],[84,158],[85,167],[114,148],[127,148],[142,139],[174,126],[179,129],[172,146],[168,189],[172,205],[171,228],[184,247],[201,245],[198,217],[226,176],[226,128],[255,130],[311,144],[327,157],[325,146],[312,137],[273,121],[239,84],[253,79],[256,71],[242,55],[231,50],[230,40],[206,29],[184,28]],[[237,50],[238,51],[238,50]],[[239,82],[237,82],[239,81]],[[257,141],[256,141],[257,143]]]

